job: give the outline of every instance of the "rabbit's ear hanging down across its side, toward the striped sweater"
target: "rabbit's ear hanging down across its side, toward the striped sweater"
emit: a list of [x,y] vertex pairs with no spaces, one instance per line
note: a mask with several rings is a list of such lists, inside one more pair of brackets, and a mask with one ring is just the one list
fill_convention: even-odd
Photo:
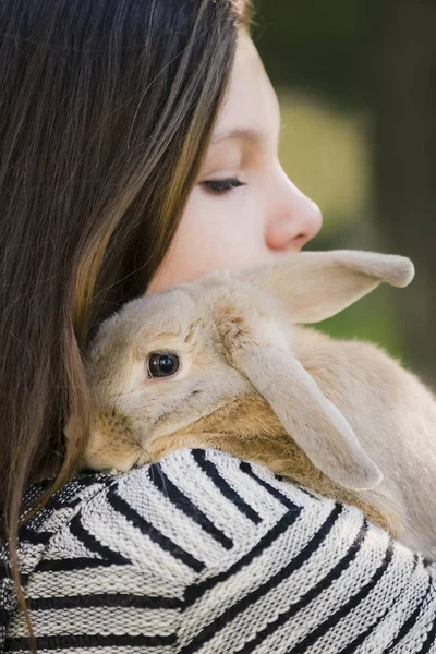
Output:
[[365,453],[342,413],[291,352],[244,346],[232,352],[232,365],[265,398],[287,434],[316,468],[344,488],[367,491],[378,486],[380,470]]

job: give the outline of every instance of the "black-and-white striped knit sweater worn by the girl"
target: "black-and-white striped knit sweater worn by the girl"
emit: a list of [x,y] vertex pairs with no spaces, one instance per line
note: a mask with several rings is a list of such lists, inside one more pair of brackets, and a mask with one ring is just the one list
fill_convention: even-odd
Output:
[[[19,553],[38,652],[436,653],[436,565],[358,509],[215,450],[82,473]],[[5,560],[0,649],[27,652]]]

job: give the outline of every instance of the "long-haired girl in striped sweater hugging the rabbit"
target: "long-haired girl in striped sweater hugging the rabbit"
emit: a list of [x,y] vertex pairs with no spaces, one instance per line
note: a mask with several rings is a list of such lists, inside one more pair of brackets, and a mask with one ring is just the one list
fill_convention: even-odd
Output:
[[99,323],[320,228],[246,0],[3,0],[0,25],[2,650],[436,651],[436,568],[358,509],[214,450],[81,470]]

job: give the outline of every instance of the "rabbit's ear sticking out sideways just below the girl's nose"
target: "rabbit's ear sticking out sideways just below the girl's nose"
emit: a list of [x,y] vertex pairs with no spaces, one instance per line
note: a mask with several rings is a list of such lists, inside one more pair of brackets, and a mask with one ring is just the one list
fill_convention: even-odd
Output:
[[318,323],[350,306],[382,281],[408,286],[414,267],[403,256],[336,250],[298,252],[278,264],[234,276],[283,302],[293,323]]

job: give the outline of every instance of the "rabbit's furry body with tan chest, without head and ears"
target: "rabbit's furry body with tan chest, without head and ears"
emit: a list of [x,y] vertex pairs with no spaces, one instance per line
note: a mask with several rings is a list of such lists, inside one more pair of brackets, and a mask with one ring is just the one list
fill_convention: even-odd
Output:
[[[292,349],[341,411],[384,473],[374,489],[332,482],[290,438],[257,393],[238,397],[150,446],[154,460],[183,447],[222,449],[266,465],[320,495],[353,504],[404,545],[436,559],[436,401],[413,374],[370,343],[294,328]],[[340,444],[338,443],[338,448]],[[428,493],[416,493],[416,485]],[[413,502],[411,502],[413,498]]]

